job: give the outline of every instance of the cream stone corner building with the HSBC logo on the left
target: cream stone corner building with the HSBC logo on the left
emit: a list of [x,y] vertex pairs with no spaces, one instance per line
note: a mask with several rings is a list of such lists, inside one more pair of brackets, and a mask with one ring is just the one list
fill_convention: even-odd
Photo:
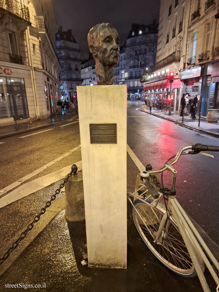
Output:
[[0,124],[45,119],[60,95],[52,1],[0,2]]

